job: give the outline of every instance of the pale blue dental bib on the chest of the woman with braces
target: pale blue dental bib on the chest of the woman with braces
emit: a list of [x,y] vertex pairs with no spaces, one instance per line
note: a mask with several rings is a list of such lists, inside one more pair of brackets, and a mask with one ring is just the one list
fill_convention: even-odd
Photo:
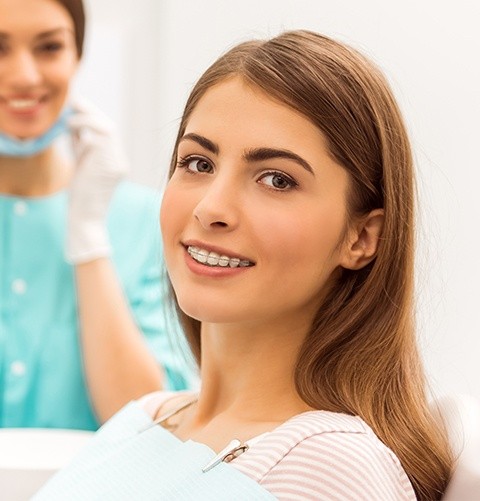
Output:
[[133,401],[105,423],[86,448],[32,501],[231,501],[275,497],[204,444],[181,441]]

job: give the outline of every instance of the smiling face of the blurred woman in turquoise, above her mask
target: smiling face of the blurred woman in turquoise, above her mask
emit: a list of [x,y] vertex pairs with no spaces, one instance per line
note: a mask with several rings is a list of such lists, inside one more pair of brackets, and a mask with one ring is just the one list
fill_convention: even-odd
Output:
[[77,68],[73,20],[55,0],[0,0],[0,131],[17,138],[57,120]]

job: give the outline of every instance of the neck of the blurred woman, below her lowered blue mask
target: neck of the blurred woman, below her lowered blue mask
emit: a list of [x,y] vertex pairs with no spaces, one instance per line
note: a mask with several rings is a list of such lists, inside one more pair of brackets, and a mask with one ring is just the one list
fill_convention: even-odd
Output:
[[27,158],[0,156],[0,193],[46,196],[65,188],[70,173],[67,162],[54,148]]

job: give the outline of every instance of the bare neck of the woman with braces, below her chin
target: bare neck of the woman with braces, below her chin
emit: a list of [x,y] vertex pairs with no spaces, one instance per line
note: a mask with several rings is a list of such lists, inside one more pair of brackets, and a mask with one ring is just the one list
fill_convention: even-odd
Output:
[[[284,320],[284,319],[283,319]],[[197,419],[232,413],[246,422],[278,421],[311,410],[295,389],[305,326],[202,325],[202,389]]]

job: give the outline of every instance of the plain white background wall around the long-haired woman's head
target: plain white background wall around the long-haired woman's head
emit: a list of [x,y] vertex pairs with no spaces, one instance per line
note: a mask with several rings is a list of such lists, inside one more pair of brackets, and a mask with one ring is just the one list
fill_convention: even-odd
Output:
[[[433,391],[480,398],[480,3],[87,0],[77,91],[161,190],[195,80],[235,43],[305,28],[360,49],[403,109],[418,173],[418,330]],[[479,151],[477,152],[477,148]]]

